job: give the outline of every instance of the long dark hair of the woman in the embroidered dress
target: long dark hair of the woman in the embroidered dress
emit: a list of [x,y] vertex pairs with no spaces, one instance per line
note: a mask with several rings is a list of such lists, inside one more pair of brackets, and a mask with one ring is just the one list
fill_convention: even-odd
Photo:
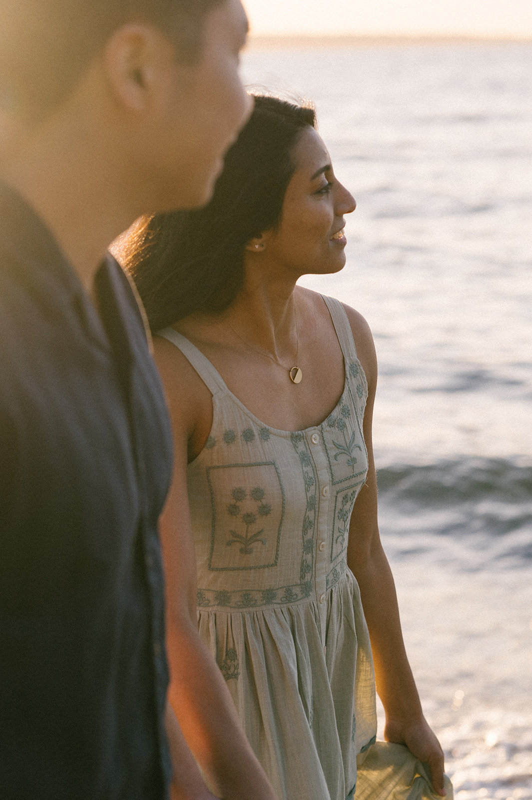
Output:
[[152,330],[195,311],[216,313],[236,297],[244,248],[280,221],[295,170],[291,154],[312,108],[256,95],[255,108],[225,157],[208,206],[143,218],[120,245]]

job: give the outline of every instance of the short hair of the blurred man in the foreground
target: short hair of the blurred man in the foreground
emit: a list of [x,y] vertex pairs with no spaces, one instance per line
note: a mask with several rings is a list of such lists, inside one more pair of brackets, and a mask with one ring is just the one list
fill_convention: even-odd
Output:
[[205,14],[223,0],[0,0],[0,109],[38,120],[58,106],[125,22],[169,34],[194,62]]

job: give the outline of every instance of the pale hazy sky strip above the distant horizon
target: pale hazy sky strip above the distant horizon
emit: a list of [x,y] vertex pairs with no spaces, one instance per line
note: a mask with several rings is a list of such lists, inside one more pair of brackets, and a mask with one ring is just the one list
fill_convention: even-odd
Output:
[[256,34],[532,38],[532,0],[243,0]]

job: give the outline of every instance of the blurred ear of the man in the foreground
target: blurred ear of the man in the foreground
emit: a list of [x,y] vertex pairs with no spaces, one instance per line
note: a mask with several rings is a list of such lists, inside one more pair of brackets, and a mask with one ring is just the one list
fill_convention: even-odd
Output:
[[175,65],[172,42],[155,26],[121,26],[105,43],[103,67],[114,98],[133,112],[149,110]]

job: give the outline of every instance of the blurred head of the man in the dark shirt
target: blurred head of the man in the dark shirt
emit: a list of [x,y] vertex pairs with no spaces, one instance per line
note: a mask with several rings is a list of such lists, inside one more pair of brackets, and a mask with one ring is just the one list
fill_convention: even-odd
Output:
[[240,0],[0,0],[0,115],[77,131],[142,212],[200,205],[250,110],[247,30]]

